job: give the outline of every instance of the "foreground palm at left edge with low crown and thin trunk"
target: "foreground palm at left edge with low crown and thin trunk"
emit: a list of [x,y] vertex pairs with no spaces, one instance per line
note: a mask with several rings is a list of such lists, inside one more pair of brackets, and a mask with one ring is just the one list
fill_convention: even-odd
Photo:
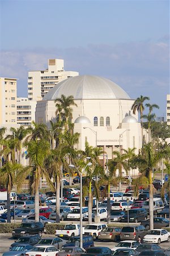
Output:
[[[16,176],[16,171],[20,175]],[[21,164],[6,162],[0,169],[0,177],[2,184],[7,188],[7,222],[11,222],[10,217],[10,193],[14,184],[18,185],[18,188],[22,185],[23,174],[27,171],[27,167],[24,168]]]

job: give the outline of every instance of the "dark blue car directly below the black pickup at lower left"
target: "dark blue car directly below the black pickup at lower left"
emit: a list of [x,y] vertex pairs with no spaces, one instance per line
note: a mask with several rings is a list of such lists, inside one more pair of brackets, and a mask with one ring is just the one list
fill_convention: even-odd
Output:
[[16,245],[20,245],[21,243],[28,243],[28,245],[36,245],[41,241],[41,237],[39,235],[33,235],[33,236],[24,236],[18,238],[18,240],[15,241],[15,243],[12,243],[10,248]]

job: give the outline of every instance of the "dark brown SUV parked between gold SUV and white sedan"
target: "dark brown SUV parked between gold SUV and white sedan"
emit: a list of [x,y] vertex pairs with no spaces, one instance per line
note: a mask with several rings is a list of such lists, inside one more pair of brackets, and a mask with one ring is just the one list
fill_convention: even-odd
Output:
[[143,239],[147,234],[145,226],[124,226],[121,231],[121,241],[122,240],[137,240],[138,236]]

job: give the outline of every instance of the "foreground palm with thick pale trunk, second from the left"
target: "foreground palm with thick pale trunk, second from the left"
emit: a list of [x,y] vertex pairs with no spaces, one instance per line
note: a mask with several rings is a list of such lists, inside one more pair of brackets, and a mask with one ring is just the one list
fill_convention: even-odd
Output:
[[46,181],[52,186],[48,172],[44,168],[44,162],[50,152],[50,144],[45,139],[29,141],[27,143],[27,157],[33,170],[33,186],[35,189],[35,221],[39,221],[39,184],[44,175]]

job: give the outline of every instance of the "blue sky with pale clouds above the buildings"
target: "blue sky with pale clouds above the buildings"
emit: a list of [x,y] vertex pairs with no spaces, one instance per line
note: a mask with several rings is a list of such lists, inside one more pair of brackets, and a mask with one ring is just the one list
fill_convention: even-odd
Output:
[[63,59],[66,71],[102,76],[165,115],[169,0],[0,0],[0,77],[18,78]]

